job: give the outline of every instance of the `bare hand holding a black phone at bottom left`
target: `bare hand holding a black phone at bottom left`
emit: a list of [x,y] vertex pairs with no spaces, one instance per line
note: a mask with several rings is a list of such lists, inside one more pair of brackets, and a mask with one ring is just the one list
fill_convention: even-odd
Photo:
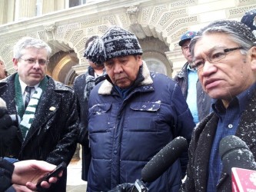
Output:
[[[12,174],[12,183],[25,185],[31,190],[36,190],[36,184],[39,179],[55,169],[55,165],[48,164],[45,161],[27,160],[19,161],[15,164]],[[63,172],[63,171],[62,171]],[[58,177],[62,177],[62,172]],[[42,181],[41,187],[48,188],[52,183],[56,183],[58,177],[51,177],[48,182]]]

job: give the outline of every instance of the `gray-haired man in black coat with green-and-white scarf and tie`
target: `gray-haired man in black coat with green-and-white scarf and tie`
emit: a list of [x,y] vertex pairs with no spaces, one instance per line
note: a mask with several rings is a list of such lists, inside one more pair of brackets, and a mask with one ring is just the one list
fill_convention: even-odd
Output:
[[[17,114],[15,146],[2,157],[19,161],[35,159],[50,164],[68,164],[78,135],[77,100],[74,91],[46,75],[51,48],[39,39],[25,37],[14,46],[17,71],[0,81],[0,97],[9,114]],[[67,172],[47,191],[65,191]],[[13,185],[15,190],[25,187]],[[12,189],[9,189],[12,190]]]

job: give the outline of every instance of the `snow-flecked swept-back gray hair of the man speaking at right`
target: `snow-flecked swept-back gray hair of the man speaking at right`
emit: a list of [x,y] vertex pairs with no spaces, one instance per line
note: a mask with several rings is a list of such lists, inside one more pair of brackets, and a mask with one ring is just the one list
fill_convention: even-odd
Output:
[[191,39],[189,49],[193,58],[194,45],[202,38],[203,35],[211,33],[224,33],[229,35],[231,40],[242,47],[241,53],[243,55],[248,54],[248,50],[255,46],[256,43],[256,38],[250,31],[250,28],[243,23],[232,20],[215,21],[211,22],[206,27],[201,28],[197,35]]

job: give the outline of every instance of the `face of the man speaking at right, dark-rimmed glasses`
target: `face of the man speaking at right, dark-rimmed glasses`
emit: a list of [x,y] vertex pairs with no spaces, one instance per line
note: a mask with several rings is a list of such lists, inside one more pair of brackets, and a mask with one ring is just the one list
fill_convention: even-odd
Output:
[[248,55],[242,55],[239,49],[229,51],[224,58],[214,63],[209,62],[207,57],[219,52],[216,50],[239,46],[223,33],[203,35],[194,45],[194,60],[205,60],[204,67],[198,69],[204,91],[211,98],[222,99],[225,106],[255,82],[256,47],[251,48]]

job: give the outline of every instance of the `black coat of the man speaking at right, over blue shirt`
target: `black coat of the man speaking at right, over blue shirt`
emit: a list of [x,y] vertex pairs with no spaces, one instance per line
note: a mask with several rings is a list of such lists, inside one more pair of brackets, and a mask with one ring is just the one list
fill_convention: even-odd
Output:
[[[256,91],[248,102],[247,107],[241,115],[241,121],[235,135],[240,137],[250,148],[254,159],[256,159]],[[181,191],[206,192],[208,184],[208,162],[211,155],[211,145],[218,125],[218,116],[214,113],[208,115],[198,127],[195,128],[189,147],[189,161],[187,169],[187,180],[182,185]],[[211,136],[211,137],[210,137]],[[217,191],[232,191],[231,177],[227,173],[221,173],[221,179],[217,185]]]

